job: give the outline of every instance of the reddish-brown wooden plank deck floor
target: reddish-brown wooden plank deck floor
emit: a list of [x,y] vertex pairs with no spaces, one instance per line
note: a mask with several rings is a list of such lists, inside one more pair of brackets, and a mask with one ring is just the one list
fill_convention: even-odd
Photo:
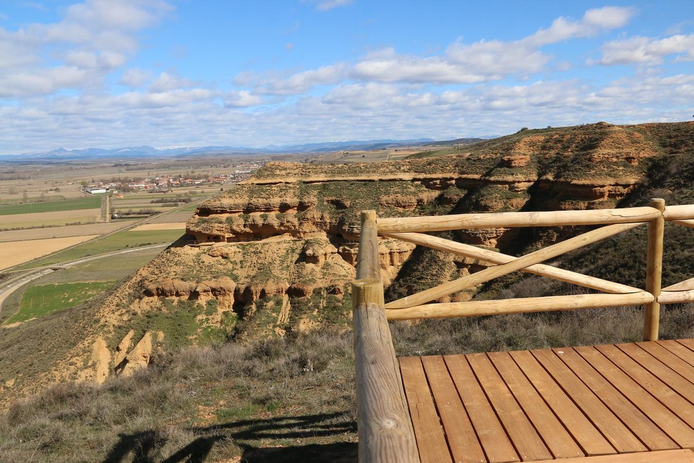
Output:
[[422,463],[694,462],[694,339],[398,360]]

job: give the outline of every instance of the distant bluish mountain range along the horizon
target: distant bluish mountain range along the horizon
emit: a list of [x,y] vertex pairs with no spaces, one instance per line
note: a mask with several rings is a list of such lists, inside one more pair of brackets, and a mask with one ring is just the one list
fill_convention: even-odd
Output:
[[58,148],[39,153],[22,153],[0,155],[0,160],[83,160],[83,159],[126,159],[126,158],[166,158],[186,155],[216,154],[265,154],[265,153],[323,153],[341,150],[385,149],[405,145],[473,143],[482,138],[461,138],[443,142],[434,142],[431,138],[413,140],[349,140],[323,143],[269,145],[260,148],[248,146],[191,146],[180,148],[158,149],[152,146],[128,146],[125,148]]

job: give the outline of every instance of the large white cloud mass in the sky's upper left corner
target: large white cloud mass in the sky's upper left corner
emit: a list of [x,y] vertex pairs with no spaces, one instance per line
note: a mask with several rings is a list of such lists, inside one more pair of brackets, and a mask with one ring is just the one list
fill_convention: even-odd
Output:
[[85,0],[59,22],[0,28],[0,97],[99,87],[137,50],[136,34],[169,10],[162,0]]

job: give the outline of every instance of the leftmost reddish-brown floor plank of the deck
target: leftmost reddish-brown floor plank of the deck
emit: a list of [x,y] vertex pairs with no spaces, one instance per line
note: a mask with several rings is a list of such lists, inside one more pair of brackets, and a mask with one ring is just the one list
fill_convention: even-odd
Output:
[[452,462],[420,358],[401,357],[400,372],[421,462]]

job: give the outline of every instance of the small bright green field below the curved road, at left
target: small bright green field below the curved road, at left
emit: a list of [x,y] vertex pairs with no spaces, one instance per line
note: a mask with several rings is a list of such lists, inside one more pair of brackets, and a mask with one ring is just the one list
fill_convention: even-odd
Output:
[[43,317],[56,310],[74,307],[113,286],[115,281],[87,281],[81,283],[52,283],[36,285],[24,292],[19,310],[5,323],[27,321]]

